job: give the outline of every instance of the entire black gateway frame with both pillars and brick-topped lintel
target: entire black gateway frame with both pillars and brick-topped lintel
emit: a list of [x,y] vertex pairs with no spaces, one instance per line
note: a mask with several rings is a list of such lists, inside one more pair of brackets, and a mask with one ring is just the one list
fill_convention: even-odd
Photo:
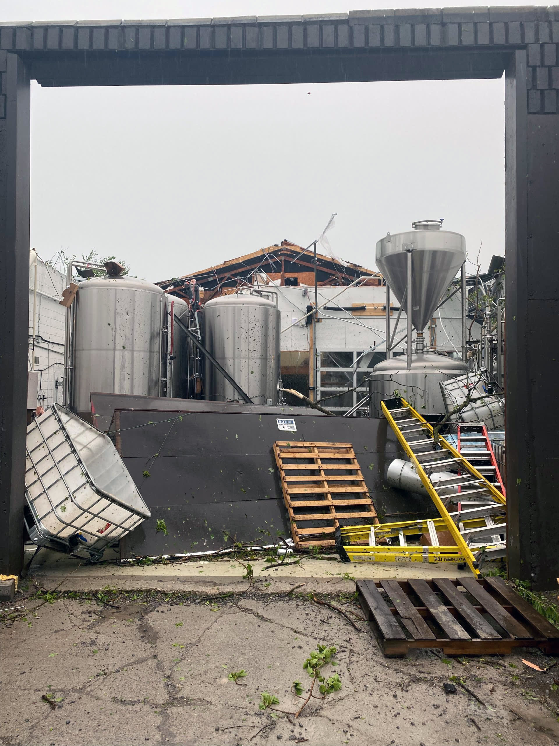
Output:
[[[21,567],[30,81],[205,85],[505,72],[509,568],[559,576],[559,7],[0,24],[0,571]],[[468,143],[464,142],[464,148]]]

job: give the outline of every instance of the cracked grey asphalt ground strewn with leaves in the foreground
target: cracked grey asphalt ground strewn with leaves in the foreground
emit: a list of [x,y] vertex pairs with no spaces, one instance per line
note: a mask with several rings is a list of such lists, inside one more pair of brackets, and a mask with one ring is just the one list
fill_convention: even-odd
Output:
[[[364,621],[358,631],[305,597],[258,589],[228,598],[127,593],[110,604],[16,597],[11,606],[28,611],[0,625],[1,745],[559,743],[559,669],[522,663],[549,665],[538,651],[462,663],[432,651],[385,659]],[[338,648],[326,671],[338,672],[342,688],[312,698],[295,720],[277,710],[302,703],[291,684],[308,689],[303,661],[318,643]],[[241,669],[239,683],[228,678]],[[451,676],[484,704],[460,686],[446,695]],[[274,711],[259,709],[262,692],[279,700]]]

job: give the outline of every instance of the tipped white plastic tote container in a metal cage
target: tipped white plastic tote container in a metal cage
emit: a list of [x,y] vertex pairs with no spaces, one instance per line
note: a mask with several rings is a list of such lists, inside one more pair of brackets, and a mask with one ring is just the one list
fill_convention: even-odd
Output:
[[31,540],[92,560],[151,513],[113,442],[53,404],[27,428]]

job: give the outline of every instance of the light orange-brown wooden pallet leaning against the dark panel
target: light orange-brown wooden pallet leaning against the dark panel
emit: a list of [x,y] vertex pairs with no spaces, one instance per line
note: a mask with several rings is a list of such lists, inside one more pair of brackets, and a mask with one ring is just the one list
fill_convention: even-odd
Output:
[[351,443],[279,440],[274,454],[296,547],[333,547],[340,521],[379,522]]

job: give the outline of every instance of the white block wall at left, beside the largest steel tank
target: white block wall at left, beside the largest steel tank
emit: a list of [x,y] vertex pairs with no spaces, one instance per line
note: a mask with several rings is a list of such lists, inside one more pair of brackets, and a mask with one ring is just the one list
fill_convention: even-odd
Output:
[[[34,267],[29,271],[29,355],[39,372],[37,404],[47,407],[57,401],[62,403],[64,374],[64,325],[66,309],[60,305],[60,296],[66,287],[66,276],[54,267],[37,260],[37,301],[34,319]],[[37,360],[38,359],[38,360]],[[57,380],[60,386],[57,388]]]

